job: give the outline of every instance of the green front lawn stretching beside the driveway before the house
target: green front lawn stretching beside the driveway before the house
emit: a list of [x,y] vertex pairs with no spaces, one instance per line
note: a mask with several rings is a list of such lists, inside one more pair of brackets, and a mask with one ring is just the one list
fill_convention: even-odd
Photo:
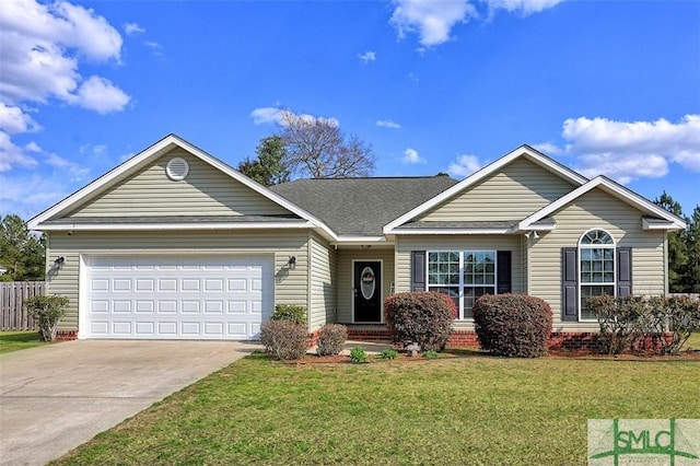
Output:
[[55,464],[584,465],[587,419],[700,418],[699,376],[681,360],[254,354]]

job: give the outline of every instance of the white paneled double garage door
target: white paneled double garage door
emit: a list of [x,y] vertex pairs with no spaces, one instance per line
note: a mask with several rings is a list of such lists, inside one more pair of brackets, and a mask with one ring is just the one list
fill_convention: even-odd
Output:
[[271,258],[91,257],[85,265],[88,338],[250,339],[272,307]]

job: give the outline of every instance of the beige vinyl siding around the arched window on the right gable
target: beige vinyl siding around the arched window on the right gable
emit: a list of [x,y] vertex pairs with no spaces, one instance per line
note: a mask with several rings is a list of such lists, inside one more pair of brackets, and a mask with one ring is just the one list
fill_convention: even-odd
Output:
[[529,292],[545,299],[552,308],[555,330],[597,330],[593,323],[561,322],[561,248],[576,247],[581,235],[592,229],[607,231],[619,247],[632,248],[634,294],[664,294],[664,232],[642,230],[642,213],[626,202],[594,189],[553,215],[556,230],[540,233],[529,249]]

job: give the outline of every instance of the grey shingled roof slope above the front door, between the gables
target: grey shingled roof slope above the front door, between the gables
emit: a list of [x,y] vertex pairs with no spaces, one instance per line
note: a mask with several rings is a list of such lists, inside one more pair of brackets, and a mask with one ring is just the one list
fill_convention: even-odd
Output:
[[270,189],[342,236],[378,236],[382,228],[457,183],[450,176],[296,179]]

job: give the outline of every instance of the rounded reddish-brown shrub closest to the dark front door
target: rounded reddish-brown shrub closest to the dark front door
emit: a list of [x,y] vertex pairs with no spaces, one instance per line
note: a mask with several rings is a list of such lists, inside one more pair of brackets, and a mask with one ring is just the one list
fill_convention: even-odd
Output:
[[384,301],[384,313],[395,343],[417,343],[433,351],[445,348],[457,317],[454,301],[432,291],[392,294]]

